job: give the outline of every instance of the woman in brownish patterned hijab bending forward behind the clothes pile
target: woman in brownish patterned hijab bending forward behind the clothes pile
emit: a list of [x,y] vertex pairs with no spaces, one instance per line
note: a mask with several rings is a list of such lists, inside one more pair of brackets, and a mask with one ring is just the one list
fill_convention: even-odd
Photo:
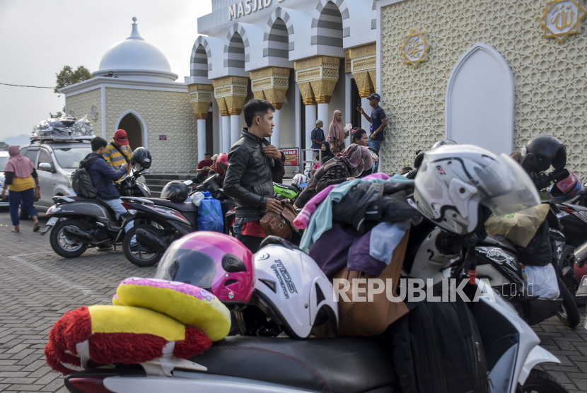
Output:
[[367,168],[371,168],[371,165],[373,165],[373,158],[369,149],[352,144],[345,148],[339,157],[332,158],[320,167],[296,199],[295,207],[303,208],[315,194],[332,184],[355,180],[356,176],[361,175]]

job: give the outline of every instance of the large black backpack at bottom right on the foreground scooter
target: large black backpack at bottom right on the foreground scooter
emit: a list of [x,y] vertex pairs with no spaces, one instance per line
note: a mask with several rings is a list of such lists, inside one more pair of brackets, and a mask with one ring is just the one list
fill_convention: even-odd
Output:
[[[440,284],[433,292],[441,295]],[[386,335],[402,393],[488,393],[481,336],[465,302],[406,305],[409,313]]]

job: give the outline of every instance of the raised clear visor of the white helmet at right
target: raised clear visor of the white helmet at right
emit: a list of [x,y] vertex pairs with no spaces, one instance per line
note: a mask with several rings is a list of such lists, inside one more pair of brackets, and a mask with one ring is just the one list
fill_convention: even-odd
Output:
[[472,183],[483,195],[482,204],[492,209],[496,216],[514,213],[540,204],[530,176],[512,158],[501,153],[496,159],[487,157],[487,165],[465,167]]

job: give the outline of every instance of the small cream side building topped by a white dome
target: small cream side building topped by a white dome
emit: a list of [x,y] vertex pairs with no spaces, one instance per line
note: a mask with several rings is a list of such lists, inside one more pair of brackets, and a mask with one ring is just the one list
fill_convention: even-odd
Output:
[[133,18],[131,35],[107,50],[92,78],[61,91],[66,113],[88,115],[96,135],[111,141],[117,129],[124,129],[133,150],[148,148],[151,173],[193,172],[197,119],[188,87],[177,79],[163,52],[141,37]]

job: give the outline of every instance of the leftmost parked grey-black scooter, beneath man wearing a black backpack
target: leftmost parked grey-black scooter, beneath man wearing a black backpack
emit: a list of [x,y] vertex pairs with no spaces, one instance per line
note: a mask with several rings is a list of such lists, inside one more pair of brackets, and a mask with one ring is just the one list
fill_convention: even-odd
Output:
[[[149,187],[137,181],[144,171],[134,168],[132,175],[115,184],[123,201],[151,197]],[[50,244],[58,255],[79,257],[88,247],[112,246],[124,237],[129,215],[122,215],[125,221],[121,225],[114,211],[103,201],[79,196],[57,196],[53,200],[55,204],[47,210],[50,219],[41,235],[51,232]]]

